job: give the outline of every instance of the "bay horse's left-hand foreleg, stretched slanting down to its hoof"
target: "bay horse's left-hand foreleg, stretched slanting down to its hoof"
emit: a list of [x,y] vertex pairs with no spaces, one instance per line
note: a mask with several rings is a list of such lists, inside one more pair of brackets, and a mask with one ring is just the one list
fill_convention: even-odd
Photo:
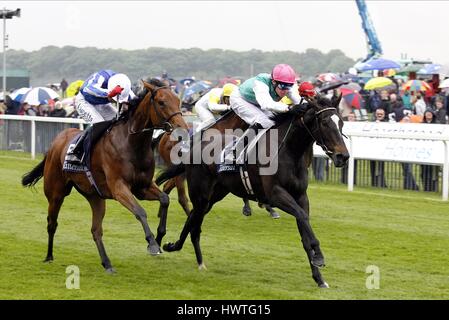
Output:
[[[131,211],[137,220],[142,224],[145,232],[145,239],[148,242],[148,251],[151,255],[158,255],[161,253],[161,249],[154,239],[154,234],[150,230],[150,226],[147,221],[147,213],[142,206],[137,202],[129,189],[128,185],[123,180],[117,180],[114,183],[108,181],[108,185],[112,191],[112,195],[115,200],[120,202],[125,208]],[[167,197],[168,198],[168,197]]]

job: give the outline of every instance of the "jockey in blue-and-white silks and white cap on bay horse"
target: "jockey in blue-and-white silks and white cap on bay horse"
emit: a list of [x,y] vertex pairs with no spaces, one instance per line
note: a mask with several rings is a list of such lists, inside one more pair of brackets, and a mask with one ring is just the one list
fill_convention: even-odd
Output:
[[[79,116],[90,124],[112,120],[119,110],[112,101],[128,103],[135,97],[131,90],[131,80],[123,73],[101,70],[90,75],[75,97],[75,108]],[[87,135],[85,130],[78,139],[75,148],[69,153],[82,156],[83,142]]]

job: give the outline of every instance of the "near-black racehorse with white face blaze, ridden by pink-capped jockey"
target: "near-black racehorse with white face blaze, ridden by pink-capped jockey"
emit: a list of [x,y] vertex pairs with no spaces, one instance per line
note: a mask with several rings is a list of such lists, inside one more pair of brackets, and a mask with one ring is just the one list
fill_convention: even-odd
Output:
[[[199,268],[205,268],[200,249],[201,224],[204,216],[228,193],[233,193],[240,198],[249,197],[252,200],[257,198],[296,218],[312,270],[312,278],[319,287],[328,287],[319,270],[324,266],[324,255],[309,223],[307,168],[310,161],[310,149],[314,141],[322,147],[337,167],[345,165],[349,154],[341,131],[343,121],[338,114],[341,96],[333,100],[321,96],[306,99],[308,108],[305,111],[297,109],[300,111],[277,115],[276,125],[266,133],[268,135],[271,130],[278,130],[277,141],[274,141],[277,142],[279,163],[277,171],[270,175],[259,174],[258,170],[261,167],[259,160],[255,164],[246,165],[254,196],[248,196],[240,173],[220,173],[216,164],[181,163],[168,168],[156,179],[156,183],[160,184],[185,172],[189,196],[193,204],[179,240],[165,244],[163,247],[165,251],[181,250],[190,233]],[[216,143],[222,145],[223,139],[216,139],[216,141],[220,141]],[[204,151],[204,148],[211,150],[209,145],[211,143],[215,142],[202,142],[201,151]],[[265,143],[268,145],[273,141],[270,142],[267,139]]]

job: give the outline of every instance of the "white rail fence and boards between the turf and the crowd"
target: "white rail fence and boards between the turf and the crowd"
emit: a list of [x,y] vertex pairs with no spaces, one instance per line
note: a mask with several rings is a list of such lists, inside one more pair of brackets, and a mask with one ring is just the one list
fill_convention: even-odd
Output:
[[[81,119],[12,115],[0,115],[0,122],[3,122],[0,124],[1,149],[8,149],[11,144],[11,138],[8,137],[8,131],[11,131],[8,123],[18,122],[17,127],[21,129],[19,134],[23,135],[22,140],[29,141],[29,148],[23,148],[23,150],[29,149],[33,159],[37,152],[37,141],[41,141],[39,150],[42,152],[48,149],[49,143],[56,134],[65,128],[56,124],[64,124],[66,127],[76,126],[80,129],[83,129],[86,124]],[[27,125],[26,122],[29,124]],[[44,123],[47,126],[43,126]],[[442,198],[445,201],[448,200],[449,125],[345,122],[343,132],[349,138],[345,139],[345,142],[351,155],[348,166],[349,191],[354,189],[354,159],[408,162],[441,165],[443,167]],[[42,139],[45,134],[48,134],[48,137]],[[17,136],[17,133],[13,130],[12,135]],[[325,156],[321,148],[316,145],[314,155]]]

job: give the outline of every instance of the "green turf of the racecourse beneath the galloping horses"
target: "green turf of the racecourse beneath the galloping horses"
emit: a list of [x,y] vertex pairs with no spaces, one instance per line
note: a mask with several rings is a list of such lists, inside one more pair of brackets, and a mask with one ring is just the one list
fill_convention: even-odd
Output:
[[[39,160],[39,159],[38,159]],[[190,240],[181,252],[149,256],[138,221],[108,201],[104,243],[117,270],[108,275],[90,233],[87,201],[75,190],[62,207],[55,260],[42,263],[47,248],[42,182],[24,189],[21,176],[38,160],[0,152],[0,299],[448,299],[449,203],[435,193],[343,186],[309,187],[311,223],[326,257],[329,289],[311,278],[296,224],[281,213],[271,219],[252,203],[228,196],[206,216],[199,271]],[[174,241],[185,221],[170,196],[165,241]],[[157,227],[158,203],[146,202]],[[66,267],[80,269],[80,289],[66,288]],[[367,289],[366,268],[380,270],[380,288]]]

